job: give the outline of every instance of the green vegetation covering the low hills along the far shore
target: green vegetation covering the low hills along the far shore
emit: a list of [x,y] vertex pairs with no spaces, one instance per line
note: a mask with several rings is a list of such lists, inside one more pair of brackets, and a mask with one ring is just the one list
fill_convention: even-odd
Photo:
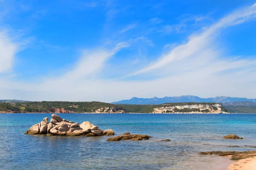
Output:
[[[17,102],[17,103],[0,103],[1,112],[12,112],[12,113],[55,113],[57,109],[64,109],[66,113],[91,113],[95,112],[97,109],[103,108],[103,111],[109,112],[113,110],[114,112],[119,112],[121,110],[126,113],[152,113],[154,108],[166,108],[184,105],[212,105],[214,110],[218,108],[213,105],[216,103],[165,103],[162,105],[114,105],[104,102]],[[222,108],[223,111],[226,111]],[[58,110],[59,111],[59,110]],[[172,113],[172,109],[166,111],[166,113]],[[174,108],[174,112],[179,113],[189,113],[189,112],[201,112],[208,113],[208,109],[200,111],[199,108]]]

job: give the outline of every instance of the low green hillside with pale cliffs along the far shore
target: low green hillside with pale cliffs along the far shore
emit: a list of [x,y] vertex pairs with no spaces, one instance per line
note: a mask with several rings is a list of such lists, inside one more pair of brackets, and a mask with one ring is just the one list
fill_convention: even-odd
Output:
[[103,102],[0,103],[0,113],[222,113],[220,103],[113,105]]

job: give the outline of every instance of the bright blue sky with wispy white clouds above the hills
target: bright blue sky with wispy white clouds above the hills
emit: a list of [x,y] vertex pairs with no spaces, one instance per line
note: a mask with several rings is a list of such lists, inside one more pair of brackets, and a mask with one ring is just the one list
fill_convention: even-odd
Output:
[[0,99],[256,98],[255,0],[0,0]]

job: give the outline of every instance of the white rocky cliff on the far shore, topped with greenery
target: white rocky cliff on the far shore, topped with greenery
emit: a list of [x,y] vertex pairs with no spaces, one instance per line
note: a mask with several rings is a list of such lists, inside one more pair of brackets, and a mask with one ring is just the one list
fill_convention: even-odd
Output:
[[162,104],[160,108],[154,108],[152,113],[227,113],[222,104],[186,104],[170,105]]

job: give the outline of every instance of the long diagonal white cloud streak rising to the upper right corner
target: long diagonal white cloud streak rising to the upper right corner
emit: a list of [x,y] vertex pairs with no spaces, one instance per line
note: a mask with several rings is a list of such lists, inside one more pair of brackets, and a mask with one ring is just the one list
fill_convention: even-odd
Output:
[[[175,60],[181,60],[187,57],[191,57],[196,52],[207,48],[209,45],[212,45],[212,38],[214,38],[217,31],[220,31],[223,28],[241,24],[253,17],[256,17],[256,7],[248,7],[243,8],[239,11],[235,11],[232,14],[229,14],[227,17],[222,18],[209,28],[205,29],[205,31],[203,31],[201,34],[190,36],[187,43],[183,45],[178,45],[176,48],[173,48],[168,54],[163,55],[153,64],[139,71],[136,71],[129,76],[152,71],[154,69],[161,68]],[[171,27],[168,27],[168,30],[172,31]]]

